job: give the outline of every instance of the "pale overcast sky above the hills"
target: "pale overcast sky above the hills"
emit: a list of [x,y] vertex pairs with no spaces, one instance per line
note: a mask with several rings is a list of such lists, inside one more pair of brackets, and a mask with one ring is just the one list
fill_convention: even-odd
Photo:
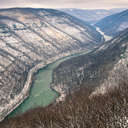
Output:
[[0,8],[128,8],[128,0],[0,0]]

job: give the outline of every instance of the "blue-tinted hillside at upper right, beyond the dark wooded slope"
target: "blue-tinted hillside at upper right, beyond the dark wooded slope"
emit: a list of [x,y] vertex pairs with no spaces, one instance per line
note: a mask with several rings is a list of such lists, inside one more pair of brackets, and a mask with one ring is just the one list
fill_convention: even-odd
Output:
[[105,17],[96,23],[95,26],[99,27],[105,34],[114,36],[128,28],[128,10]]

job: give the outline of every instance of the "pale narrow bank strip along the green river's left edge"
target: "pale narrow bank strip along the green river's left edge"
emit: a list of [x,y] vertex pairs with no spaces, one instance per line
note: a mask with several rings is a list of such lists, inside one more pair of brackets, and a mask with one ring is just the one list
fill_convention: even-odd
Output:
[[72,56],[73,54],[82,54],[82,53],[85,53],[85,49],[80,49],[77,52],[76,51],[72,51],[72,52],[68,52],[68,53],[64,53],[64,54],[58,55],[56,57],[50,58],[45,63],[44,62],[41,62],[38,65],[36,65],[35,67],[33,67],[28,72],[27,80],[26,80],[26,83],[25,83],[25,86],[24,86],[22,92],[17,97],[15,97],[14,100],[11,100],[10,101],[10,104],[7,105],[6,107],[4,107],[3,110],[2,109],[0,110],[0,112],[2,113],[2,116],[0,117],[0,120],[2,121],[8,114],[10,114],[25,99],[27,99],[29,97],[29,91],[30,91],[31,84],[32,84],[32,78],[33,78],[33,75],[35,74],[35,72],[37,72],[41,68],[44,68],[48,64],[53,63],[53,62],[55,62],[55,61],[57,61],[57,60],[59,60],[59,59],[61,59],[63,57]]

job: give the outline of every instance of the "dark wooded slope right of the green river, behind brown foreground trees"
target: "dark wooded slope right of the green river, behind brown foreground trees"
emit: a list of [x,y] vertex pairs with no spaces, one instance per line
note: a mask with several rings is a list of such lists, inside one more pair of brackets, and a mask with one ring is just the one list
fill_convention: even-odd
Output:
[[94,51],[61,63],[53,72],[52,87],[65,94],[80,85],[101,86],[97,91],[105,93],[123,79],[128,79],[128,29]]

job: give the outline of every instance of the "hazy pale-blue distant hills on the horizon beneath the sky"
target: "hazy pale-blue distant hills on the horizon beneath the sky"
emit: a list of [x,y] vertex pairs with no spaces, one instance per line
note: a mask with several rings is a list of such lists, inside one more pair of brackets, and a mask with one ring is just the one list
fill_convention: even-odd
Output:
[[72,16],[75,16],[83,21],[88,22],[89,24],[96,24],[99,20],[103,19],[106,16],[110,16],[115,13],[124,11],[124,8],[115,8],[110,10],[105,9],[60,9],[63,12],[66,12]]

